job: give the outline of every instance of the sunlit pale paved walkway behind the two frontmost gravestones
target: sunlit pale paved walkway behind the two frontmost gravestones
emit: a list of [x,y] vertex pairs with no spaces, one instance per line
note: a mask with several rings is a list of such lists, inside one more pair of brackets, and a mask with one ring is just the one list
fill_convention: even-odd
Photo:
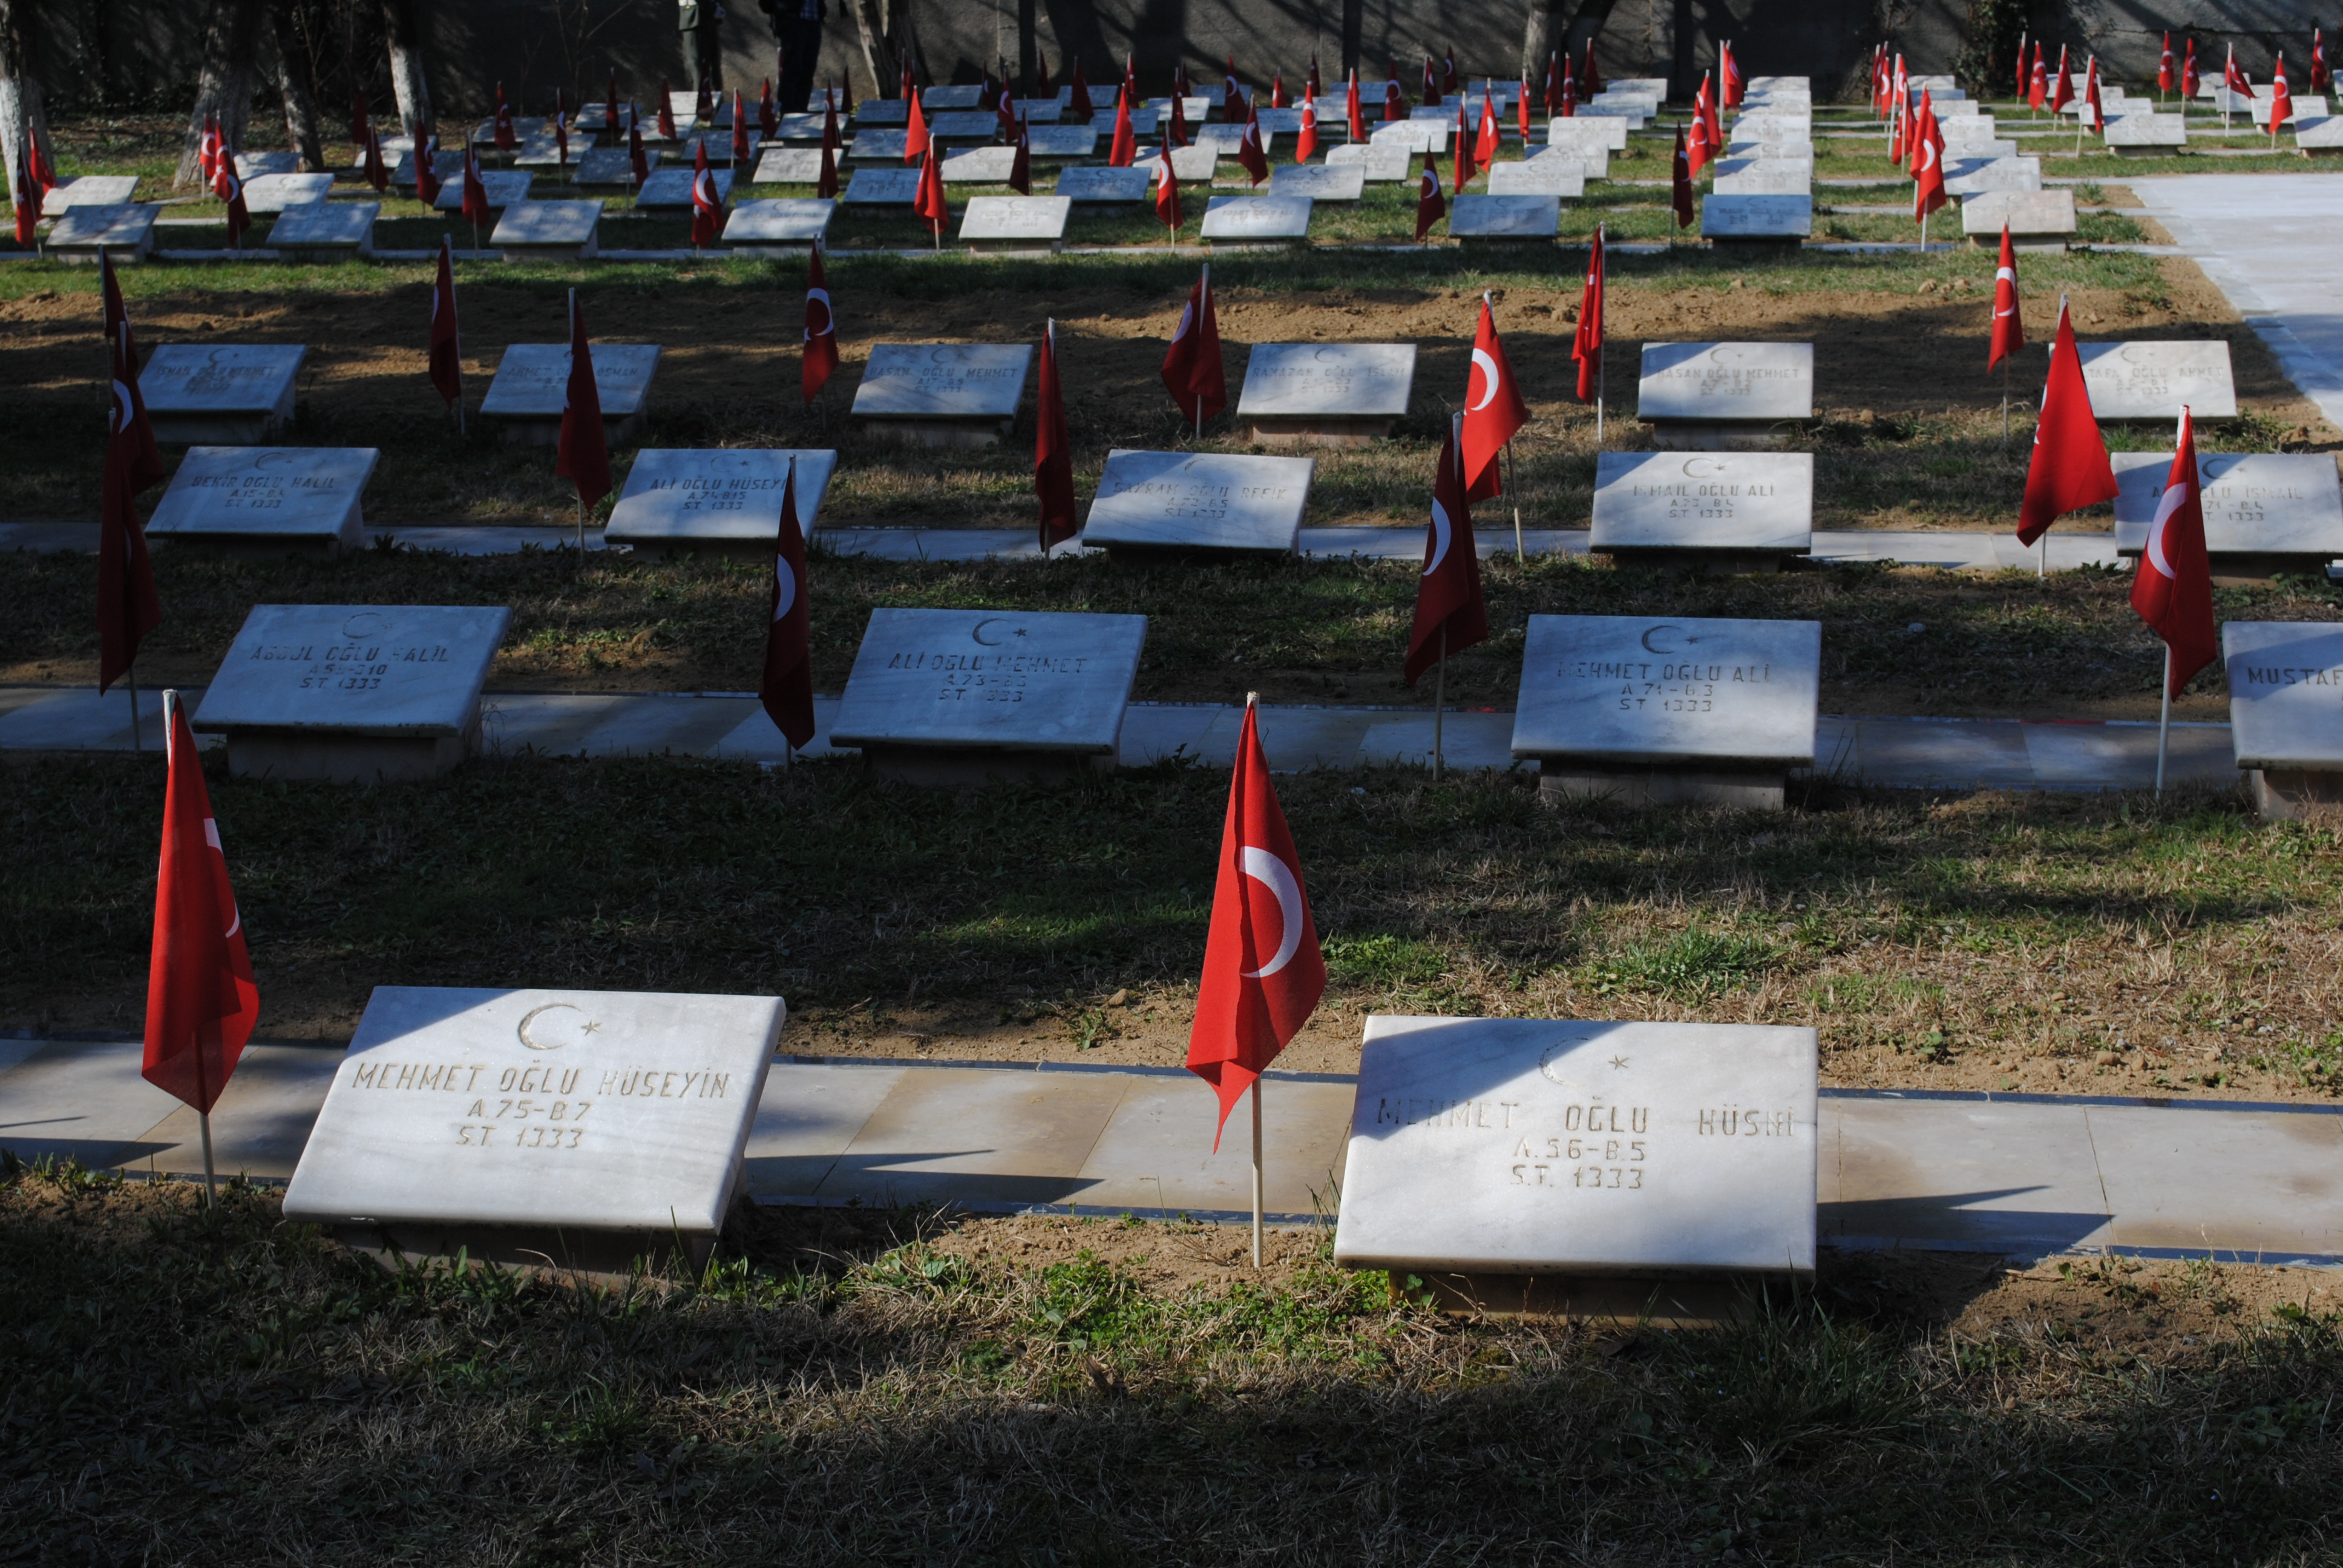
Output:
[[[0,1148],[201,1172],[194,1113],[138,1043],[0,1041]],[[255,1045],[213,1111],[225,1174],[293,1174],[342,1052]],[[1354,1080],[1263,1088],[1268,1209],[1333,1219]],[[757,1202],[1239,1219],[1242,1139],[1211,1153],[1181,1069],[783,1057],[747,1144]],[[2242,1102],[1823,1090],[1821,1235],[1842,1249],[2343,1263],[2343,1111]]]

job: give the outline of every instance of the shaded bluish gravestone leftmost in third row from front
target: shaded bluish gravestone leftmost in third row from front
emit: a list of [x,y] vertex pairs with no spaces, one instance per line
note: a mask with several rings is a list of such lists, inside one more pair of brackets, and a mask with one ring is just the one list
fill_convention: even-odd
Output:
[[366,544],[375,448],[199,445],[148,518],[150,539]]

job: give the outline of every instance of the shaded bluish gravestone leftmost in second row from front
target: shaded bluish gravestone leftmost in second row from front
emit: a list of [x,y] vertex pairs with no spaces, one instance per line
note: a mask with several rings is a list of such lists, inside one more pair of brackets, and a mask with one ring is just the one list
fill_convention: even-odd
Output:
[[253,605],[194,710],[199,731],[462,736],[504,605]]

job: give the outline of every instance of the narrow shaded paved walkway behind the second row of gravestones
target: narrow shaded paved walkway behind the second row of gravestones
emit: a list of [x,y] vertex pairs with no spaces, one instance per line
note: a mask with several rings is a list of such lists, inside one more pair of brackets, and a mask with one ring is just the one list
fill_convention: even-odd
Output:
[[[183,696],[201,703],[201,687]],[[141,691],[143,738],[159,745],[162,694]],[[799,757],[836,757],[829,722],[839,698],[813,698],[818,734]],[[1132,703],[1122,722],[1127,766],[1186,759],[1228,766],[1242,705]],[[1455,769],[1509,769],[1514,713],[1450,710],[1441,750]],[[206,738],[206,745],[216,743]],[[1425,708],[1263,703],[1261,743],[1282,773],[1350,766],[1432,766]],[[787,762],[780,731],[747,691],[490,691],[483,748],[492,757],[733,757]],[[131,750],[129,696],[87,687],[0,687],[0,750]],[[1528,766],[1528,764],[1523,764]],[[2156,724],[2029,720],[1895,720],[1825,715],[1816,771],[1842,783],[1917,790],[2146,790],[2156,783]],[[2170,783],[2231,785],[2228,724],[2174,724]]]

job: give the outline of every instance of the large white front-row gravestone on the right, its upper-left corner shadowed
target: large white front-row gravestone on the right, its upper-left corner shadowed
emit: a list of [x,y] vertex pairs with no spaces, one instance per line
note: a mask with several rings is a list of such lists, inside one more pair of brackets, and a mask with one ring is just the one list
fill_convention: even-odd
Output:
[[1816,1080],[1813,1029],[1371,1017],[1333,1256],[1813,1273]]

